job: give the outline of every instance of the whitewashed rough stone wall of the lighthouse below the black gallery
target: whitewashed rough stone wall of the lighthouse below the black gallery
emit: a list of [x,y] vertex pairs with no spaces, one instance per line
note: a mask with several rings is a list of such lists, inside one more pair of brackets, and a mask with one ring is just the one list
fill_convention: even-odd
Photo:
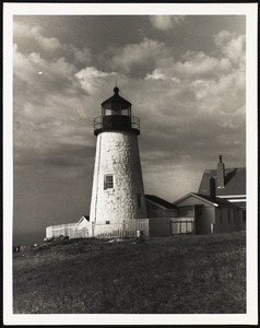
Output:
[[[114,176],[114,188],[104,190],[107,174]],[[138,137],[127,131],[102,132],[96,142],[90,221],[116,223],[142,218],[146,218],[146,206]]]

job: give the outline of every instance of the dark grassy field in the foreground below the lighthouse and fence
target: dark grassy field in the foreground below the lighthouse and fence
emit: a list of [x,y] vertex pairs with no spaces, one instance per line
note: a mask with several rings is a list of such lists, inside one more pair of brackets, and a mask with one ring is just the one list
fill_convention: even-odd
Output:
[[246,312],[245,233],[45,243],[13,255],[15,314]]

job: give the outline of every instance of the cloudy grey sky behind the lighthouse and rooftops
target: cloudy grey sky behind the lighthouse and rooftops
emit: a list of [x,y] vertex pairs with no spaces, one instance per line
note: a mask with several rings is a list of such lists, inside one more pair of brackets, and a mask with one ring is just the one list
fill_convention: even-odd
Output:
[[203,171],[246,166],[243,15],[16,15],[13,20],[14,244],[90,212],[101,103],[141,120],[145,194],[170,202]]

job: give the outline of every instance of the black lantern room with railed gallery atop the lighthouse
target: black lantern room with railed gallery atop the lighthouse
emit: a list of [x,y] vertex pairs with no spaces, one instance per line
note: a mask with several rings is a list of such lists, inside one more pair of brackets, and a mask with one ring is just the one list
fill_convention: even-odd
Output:
[[131,106],[119,95],[119,89],[114,87],[114,95],[102,103],[102,116],[94,119],[94,134],[117,130],[140,134],[140,120],[132,116]]

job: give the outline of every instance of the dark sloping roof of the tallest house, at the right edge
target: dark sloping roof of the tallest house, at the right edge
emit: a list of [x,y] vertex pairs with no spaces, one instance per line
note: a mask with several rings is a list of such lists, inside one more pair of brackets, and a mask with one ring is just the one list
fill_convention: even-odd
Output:
[[[205,169],[198,194],[210,195],[210,178],[216,178],[216,169]],[[225,188],[216,188],[216,196],[246,195],[246,167],[225,169]]]

